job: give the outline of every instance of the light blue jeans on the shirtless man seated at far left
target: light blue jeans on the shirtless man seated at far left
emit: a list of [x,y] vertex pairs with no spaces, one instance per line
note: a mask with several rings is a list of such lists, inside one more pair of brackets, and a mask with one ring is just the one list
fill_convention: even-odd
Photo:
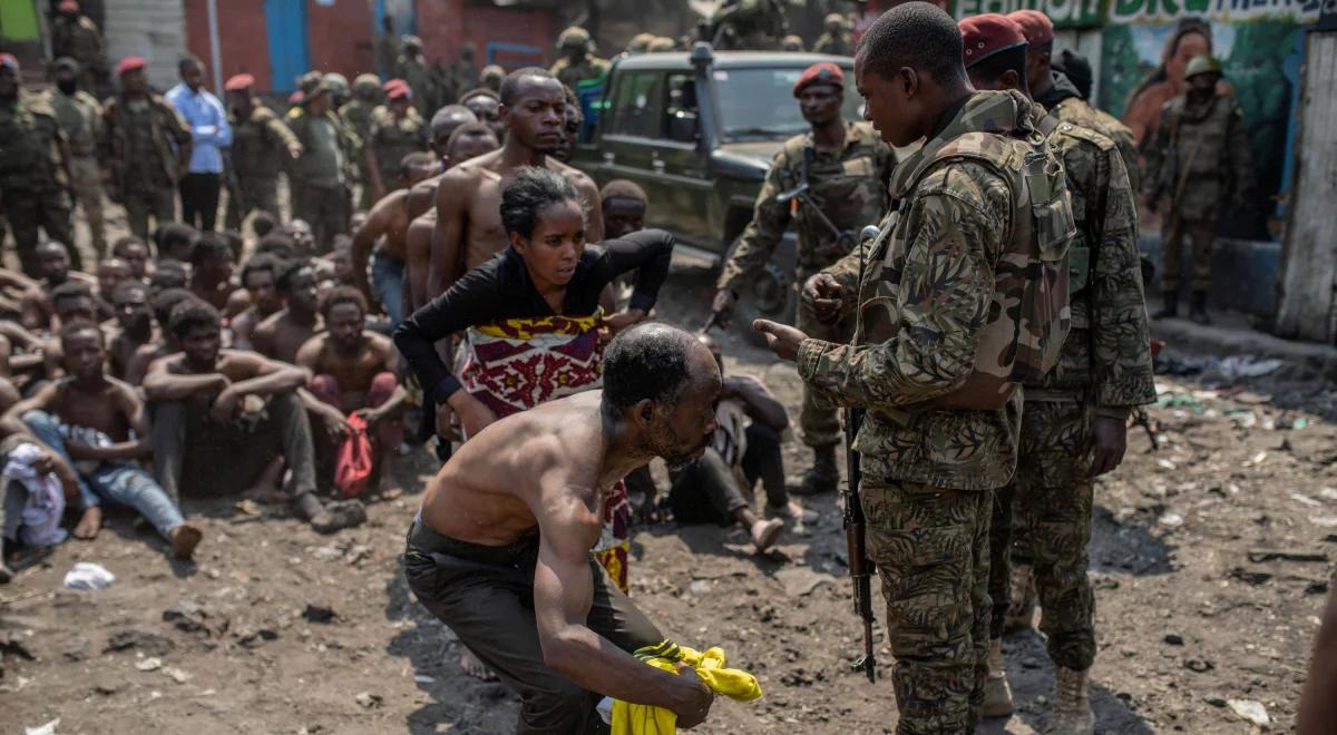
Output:
[[[23,414],[23,422],[29,432],[74,466],[74,460],[66,449],[66,440],[60,434],[60,421],[55,416],[29,410]],[[163,539],[170,539],[171,531],[185,523],[176,504],[167,497],[152,476],[136,465],[103,462],[91,473],[80,473],[79,494],[83,496],[84,508],[107,501],[139,510]]]

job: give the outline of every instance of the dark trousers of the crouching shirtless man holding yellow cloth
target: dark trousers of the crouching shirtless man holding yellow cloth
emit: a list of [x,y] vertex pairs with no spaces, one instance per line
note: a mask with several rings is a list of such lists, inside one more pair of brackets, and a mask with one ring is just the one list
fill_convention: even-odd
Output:
[[[520,735],[600,732],[594,708],[602,695],[587,692],[543,663],[533,619],[533,568],[539,537],[508,547],[483,547],[443,536],[421,521],[409,528],[404,576],[409,589],[483,663],[520,695]],[[663,633],[646,619],[603,567],[590,559],[594,601],[586,625],[631,653],[655,645]]]

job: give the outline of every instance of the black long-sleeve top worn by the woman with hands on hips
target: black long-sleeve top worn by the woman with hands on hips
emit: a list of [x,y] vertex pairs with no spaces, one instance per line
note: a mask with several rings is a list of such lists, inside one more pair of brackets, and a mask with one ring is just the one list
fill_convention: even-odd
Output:
[[[562,302],[566,317],[588,317],[599,307],[603,287],[623,273],[640,269],[628,309],[650,311],[668,278],[674,238],[663,230],[642,230],[586,247]],[[394,346],[408,361],[422,389],[444,404],[460,389],[460,378],[441,361],[436,342],[475,325],[501,319],[555,317],[533,286],[524,258],[507,247],[468,271],[444,294],[404,319],[394,330]]]

